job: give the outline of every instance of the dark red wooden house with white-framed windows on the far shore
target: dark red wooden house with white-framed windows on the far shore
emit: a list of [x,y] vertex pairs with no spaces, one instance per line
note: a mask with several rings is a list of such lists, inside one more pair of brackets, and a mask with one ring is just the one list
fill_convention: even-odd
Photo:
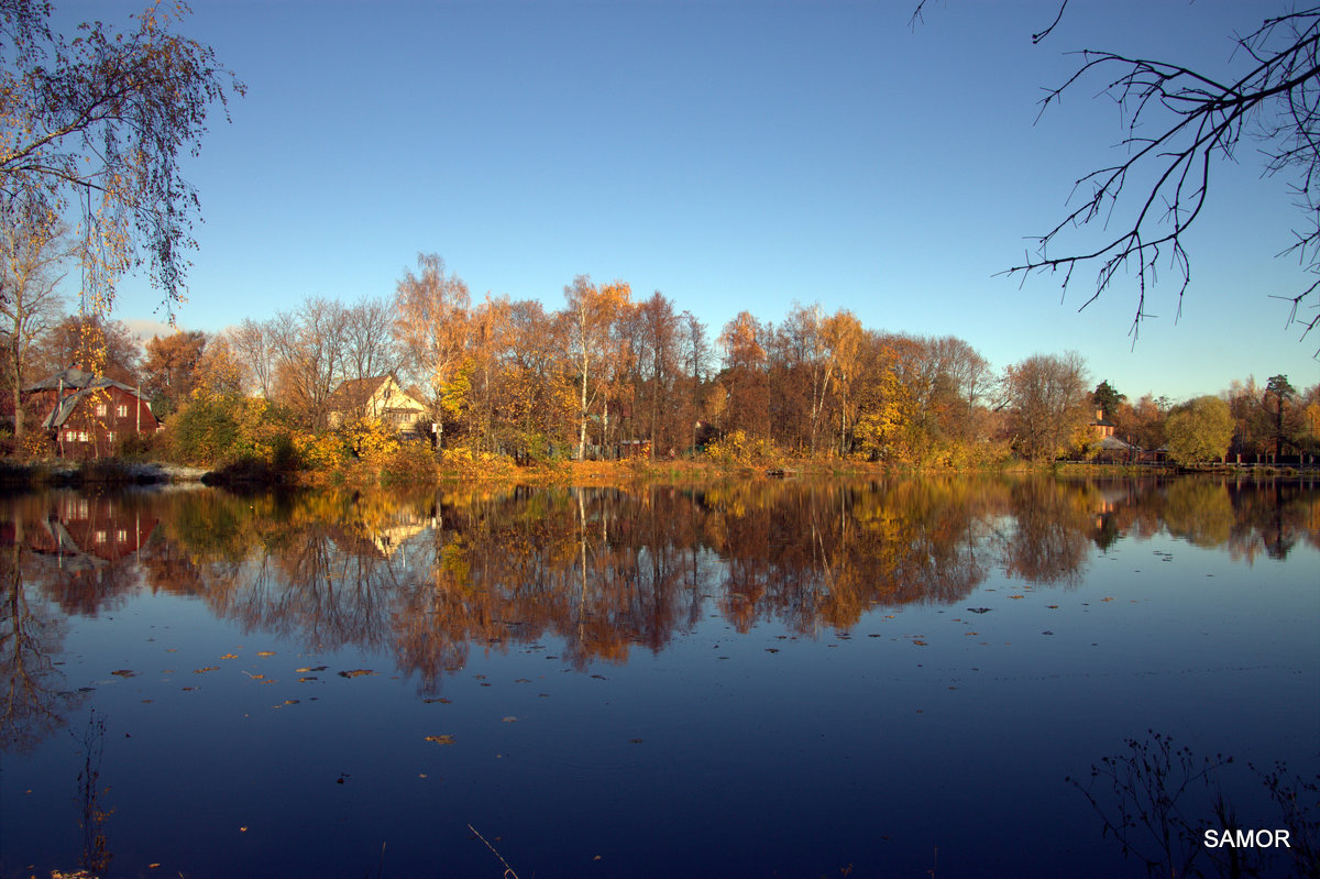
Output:
[[65,458],[112,454],[129,434],[150,434],[161,424],[141,391],[82,370],[65,370],[22,391],[57,453]]

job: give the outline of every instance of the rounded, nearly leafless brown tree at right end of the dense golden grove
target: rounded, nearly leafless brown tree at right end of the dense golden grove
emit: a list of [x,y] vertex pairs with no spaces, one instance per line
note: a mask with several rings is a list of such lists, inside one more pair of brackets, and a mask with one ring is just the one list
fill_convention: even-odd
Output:
[[1081,355],[1038,354],[1008,367],[1012,443],[1030,461],[1053,461],[1089,441],[1092,417]]

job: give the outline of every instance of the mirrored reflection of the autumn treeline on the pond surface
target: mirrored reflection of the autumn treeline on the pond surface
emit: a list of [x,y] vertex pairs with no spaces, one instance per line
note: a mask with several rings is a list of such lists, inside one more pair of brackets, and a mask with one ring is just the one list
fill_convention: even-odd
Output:
[[[956,604],[993,574],[1076,583],[1093,546],[1162,532],[1234,560],[1320,542],[1299,483],[886,479],[700,487],[215,490],[11,498],[0,512],[7,746],[62,723],[66,614],[133,589],[197,597],[308,649],[396,656],[424,692],[469,651],[562,639],[577,667],[663,649],[714,608],[847,631],[875,606]],[[40,595],[40,602],[30,597]]]

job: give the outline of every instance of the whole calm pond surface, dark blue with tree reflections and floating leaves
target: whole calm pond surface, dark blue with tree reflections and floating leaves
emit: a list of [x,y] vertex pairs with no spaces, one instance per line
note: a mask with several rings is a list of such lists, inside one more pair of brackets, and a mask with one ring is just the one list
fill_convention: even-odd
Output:
[[0,875],[1220,875],[1203,781],[1125,858],[1130,758],[1290,826],[1317,548],[1296,482],[9,498]]

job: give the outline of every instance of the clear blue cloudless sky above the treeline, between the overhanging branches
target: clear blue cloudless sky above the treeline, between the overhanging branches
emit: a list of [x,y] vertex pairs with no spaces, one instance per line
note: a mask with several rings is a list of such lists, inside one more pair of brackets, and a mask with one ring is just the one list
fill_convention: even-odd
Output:
[[[59,4],[121,21],[137,4]],[[1320,338],[1284,330],[1275,259],[1298,219],[1250,145],[1217,168],[1193,282],[1078,313],[1049,277],[997,277],[1119,157],[1098,83],[1036,121],[1084,48],[1222,71],[1274,3],[348,3],[195,0],[176,28],[248,86],[186,176],[205,223],[185,329],[267,319],[308,296],[391,296],[418,252],[474,296],[562,305],[576,275],[661,290],[711,337],[738,311],[850,309],[873,329],[957,335],[995,367],[1078,351],[1130,397],[1320,381]],[[1282,8],[1282,7],[1280,7]],[[116,17],[119,16],[119,17]],[[1171,273],[1170,273],[1171,277]],[[115,317],[160,319],[141,280]]]

